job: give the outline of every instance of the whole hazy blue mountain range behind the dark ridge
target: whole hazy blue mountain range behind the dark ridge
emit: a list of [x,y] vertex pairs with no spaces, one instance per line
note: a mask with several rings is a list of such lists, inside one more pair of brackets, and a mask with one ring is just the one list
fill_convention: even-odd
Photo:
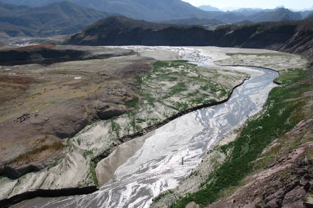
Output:
[[[236,22],[243,24],[301,20],[311,12],[292,12],[285,8],[267,10],[243,8],[231,12],[204,11],[181,0],[1,1],[6,3],[0,2],[0,36],[1,34],[9,36],[72,34],[101,18],[116,14],[136,20],[177,25],[202,25],[204,28],[214,29],[221,24]],[[205,8],[217,10],[210,6],[205,6]]]

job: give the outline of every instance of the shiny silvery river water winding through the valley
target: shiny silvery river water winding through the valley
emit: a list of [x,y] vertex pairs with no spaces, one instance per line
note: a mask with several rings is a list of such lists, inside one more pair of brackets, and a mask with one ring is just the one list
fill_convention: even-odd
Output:
[[[188,50],[179,51],[179,54],[199,65],[205,65],[210,59],[197,50]],[[115,180],[106,183],[99,191],[84,196],[37,198],[18,207],[149,207],[159,193],[177,187],[201,163],[212,146],[262,110],[278,73],[257,67],[232,69],[246,71],[251,77],[234,89],[226,103],[188,113],[156,129],[134,156],[118,167]]]

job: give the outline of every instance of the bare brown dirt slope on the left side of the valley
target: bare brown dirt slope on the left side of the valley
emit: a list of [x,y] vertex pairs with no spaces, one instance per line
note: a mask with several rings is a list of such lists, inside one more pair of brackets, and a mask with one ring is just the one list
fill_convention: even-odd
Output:
[[[129,52],[101,48],[97,55]],[[60,139],[130,110],[124,104],[137,90],[132,78],[151,71],[153,61],[132,56],[0,67],[1,173],[18,178],[44,168],[62,154]]]

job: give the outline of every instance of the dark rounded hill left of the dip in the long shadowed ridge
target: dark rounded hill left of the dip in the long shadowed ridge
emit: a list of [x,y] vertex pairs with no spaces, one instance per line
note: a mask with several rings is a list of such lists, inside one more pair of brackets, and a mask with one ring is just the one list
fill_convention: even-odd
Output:
[[[202,36],[211,31],[200,27],[177,26],[137,21],[126,17],[109,17],[97,21],[72,36],[65,44],[79,45],[183,45],[201,44],[207,40],[191,40],[190,35],[199,31]],[[190,32],[190,33],[188,33]],[[192,42],[192,43],[191,43]]]

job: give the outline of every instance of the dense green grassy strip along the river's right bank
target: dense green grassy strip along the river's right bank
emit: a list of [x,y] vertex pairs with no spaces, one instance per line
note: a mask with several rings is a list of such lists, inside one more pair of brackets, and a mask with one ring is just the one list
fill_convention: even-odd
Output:
[[225,153],[231,150],[224,164],[209,174],[199,191],[180,199],[172,207],[184,208],[192,201],[209,205],[220,199],[225,190],[240,186],[241,180],[255,170],[252,162],[264,148],[308,116],[307,100],[302,95],[313,87],[299,82],[307,75],[302,68],[282,71],[279,78],[282,86],[270,92],[261,115],[251,120],[235,141],[220,147]]

